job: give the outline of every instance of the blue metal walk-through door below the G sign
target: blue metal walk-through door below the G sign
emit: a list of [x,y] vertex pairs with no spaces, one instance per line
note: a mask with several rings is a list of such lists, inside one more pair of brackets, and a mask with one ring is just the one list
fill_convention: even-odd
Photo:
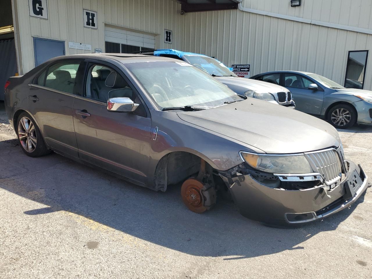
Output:
[[65,42],[43,38],[33,38],[35,66],[50,58],[65,55]]

